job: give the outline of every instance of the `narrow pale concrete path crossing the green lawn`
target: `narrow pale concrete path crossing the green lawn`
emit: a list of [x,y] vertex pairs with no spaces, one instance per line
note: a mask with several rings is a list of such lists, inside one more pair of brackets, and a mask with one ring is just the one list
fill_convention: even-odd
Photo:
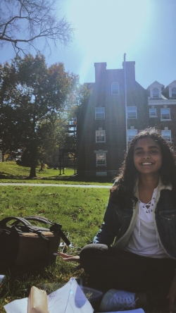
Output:
[[[113,184],[112,184],[113,185]],[[39,186],[39,187],[75,187],[75,188],[108,188],[110,189],[112,187],[112,185],[59,185],[59,184],[32,184],[32,183],[0,183],[0,186]]]

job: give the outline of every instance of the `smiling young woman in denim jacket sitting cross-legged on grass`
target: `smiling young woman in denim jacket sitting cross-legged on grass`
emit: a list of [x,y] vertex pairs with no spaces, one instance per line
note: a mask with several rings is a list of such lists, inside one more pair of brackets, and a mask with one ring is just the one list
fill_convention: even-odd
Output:
[[174,312],[176,166],[158,130],[142,130],[130,142],[94,244],[80,256],[61,256],[80,263],[106,292],[101,312],[137,307]]

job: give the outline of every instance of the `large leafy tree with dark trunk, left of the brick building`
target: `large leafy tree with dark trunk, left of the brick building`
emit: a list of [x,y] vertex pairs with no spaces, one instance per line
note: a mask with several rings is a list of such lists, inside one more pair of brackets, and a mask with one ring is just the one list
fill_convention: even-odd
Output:
[[[8,149],[13,153],[26,150],[30,154],[32,178],[36,176],[39,152],[54,142],[54,123],[58,112],[64,109],[68,94],[78,78],[65,72],[63,63],[47,68],[41,54],[35,57],[28,54],[23,59],[18,56],[11,67],[13,70],[9,70],[8,80],[1,83],[0,93],[4,110],[8,107],[13,110],[13,132],[8,135],[11,137],[9,141],[12,142],[14,137],[15,141]],[[0,122],[3,125],[2,118]],[[4,125],[4,129],[7,127]]]

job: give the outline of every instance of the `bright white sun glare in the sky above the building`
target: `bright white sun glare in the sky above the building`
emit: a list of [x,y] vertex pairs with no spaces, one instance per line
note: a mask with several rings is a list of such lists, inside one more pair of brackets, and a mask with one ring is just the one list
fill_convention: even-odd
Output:
[[122,57],[139,42],[149,23],[149,6],[149,0],[70,1],[70,19],[76,23],[75,39],[79,49],[86,51],[80,71],[83,80],[94,62],[108,63],[109,59]]

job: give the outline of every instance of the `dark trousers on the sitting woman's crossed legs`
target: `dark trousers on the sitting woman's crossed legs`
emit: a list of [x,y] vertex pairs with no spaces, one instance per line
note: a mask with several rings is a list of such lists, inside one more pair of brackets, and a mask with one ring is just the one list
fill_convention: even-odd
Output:
[[114,288],[146,293],[149,306],[166,303],[175,276],[176,260],[142,257],[107,245],[87,245],[80,252],[84,271],[93,288],[103,292]]

